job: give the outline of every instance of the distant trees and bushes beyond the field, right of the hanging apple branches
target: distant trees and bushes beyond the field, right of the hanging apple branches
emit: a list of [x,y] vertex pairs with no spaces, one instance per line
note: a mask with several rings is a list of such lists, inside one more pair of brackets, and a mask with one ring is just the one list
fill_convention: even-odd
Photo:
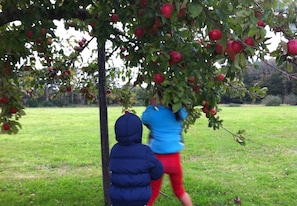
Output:
[[[255,84],[260,87],[266,87],[266,97],[257,98],[255,102],[248,96],[243,98],[232,96],[232,92],[226,93],[222,97],[224,104],[237,103],[237,104],[251,104],[251,103],[264,103],[267,99],[273,99],[279,102],[277,105],[297,104],[297,82],[285,72],[286,68],[281,68],[277,65],[274,59],[269,59],[267,62],[257,61],[252,67],[247,68],[247,72],[243,75],[243,83],[247,86]],[[297,72],[297,67],[292,68],[292,73]]]

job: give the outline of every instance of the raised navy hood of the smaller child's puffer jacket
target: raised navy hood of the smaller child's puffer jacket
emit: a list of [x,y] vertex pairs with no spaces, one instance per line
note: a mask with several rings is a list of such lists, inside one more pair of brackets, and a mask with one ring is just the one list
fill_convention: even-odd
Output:
[[141,143],[142,122],[133,113],[126,113],[119,117],[114,125],[116,140],[121,145]]

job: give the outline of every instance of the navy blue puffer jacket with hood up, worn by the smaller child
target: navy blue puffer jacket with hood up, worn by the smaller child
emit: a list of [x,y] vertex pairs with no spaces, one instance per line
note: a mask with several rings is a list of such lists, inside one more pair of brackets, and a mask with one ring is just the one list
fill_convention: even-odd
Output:
[[115,123],[116,143],[111,149],[109,196],[113,206],[143,206],[149,201],[151,180],[163,174],[162,163],[141,143],[142,122],[132,113]]

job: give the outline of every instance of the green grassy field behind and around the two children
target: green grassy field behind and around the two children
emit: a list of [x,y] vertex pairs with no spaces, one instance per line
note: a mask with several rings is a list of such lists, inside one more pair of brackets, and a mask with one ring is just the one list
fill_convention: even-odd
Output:
[[[144,110],[137,107],[138,115]],[[103,204],[97,108],[26,109],[17,135],[0,135],[0,205]],[[222,107],[240,146],[202,117],[184,134],[185,187],[195,205],[297,205],[297,107]],[[120,107],[108,112],[110,147]],[[148,131],[144,131],[144,142]],[[168,179],[156,206],[180,205]]]

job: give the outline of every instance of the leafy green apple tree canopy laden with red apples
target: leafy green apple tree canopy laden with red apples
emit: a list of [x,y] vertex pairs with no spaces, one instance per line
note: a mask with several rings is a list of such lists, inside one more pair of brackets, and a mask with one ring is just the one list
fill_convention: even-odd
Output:
[[[67,47],[55,20],[68,31],[88,35],[74,41],[69,37]],[[291,0],[2,0],[1,133],[17,133],[25,114],[22,96],[44,85],[75,90],[92,101],[98,85],[91,80],[99,76],[100,82],[105,62],[114,55],[124,64],[120,69],[107,66],[110,78],[144,87],[147,96],[162,90],[165,105],[175,111],[187,108],[185,129],[201,114],[218,129],[223,127],[218,115],[222,94],[265,95],[265,88],[243,84],[243,73],[254,61],[275,58],[284,75],[297,79],[291,73],[296,31],[296,2]],[[278,36],[273,51],[268,34]],[[84,64],[82,53],[94,41],[98,62]],[[105,93],[105,86],[99,86],[99,93]],[[132,107],[129,87],[111,92],[123,108]],[[240,134],[234,137],[244,143]]]

